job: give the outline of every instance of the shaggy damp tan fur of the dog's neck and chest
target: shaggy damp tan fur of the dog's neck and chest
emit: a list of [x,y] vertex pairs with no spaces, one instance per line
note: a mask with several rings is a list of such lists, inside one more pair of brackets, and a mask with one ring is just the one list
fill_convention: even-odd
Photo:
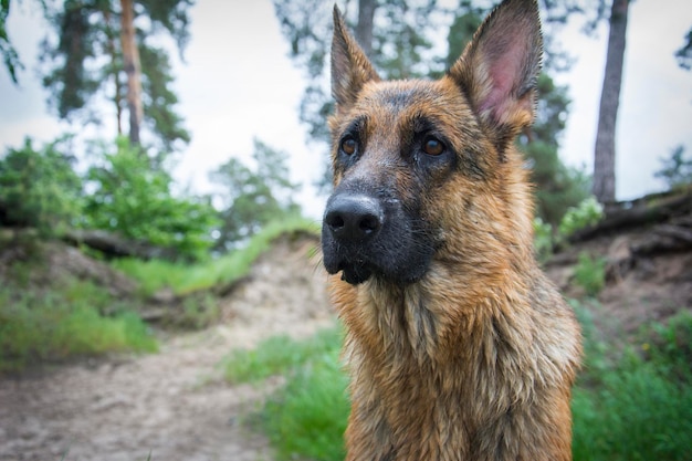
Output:
[[[555,334],[569,323],[565,313],[533,312],[528,286],[521,298],[516,292],[510,298],[507,290],[494,287],[470,304],[473,296],[454,286],[453,274],[444,276],[450,277],[447,290],[439,284],[430,290],[424,281],[401,287],[371,280],[354,287],[334,280],[339,284],[334,301],[347,325],[344,358],[352,376],[350,418],[367,413],[365,420],[373,425],[359,426],[365,433],[350,429],[346,433],[355,453],[381,450],[371,459],[382,460],[508,460],[517,458],[503,450],[523,450],[522,443],[539,446],[549,438],[544,433],[546,417],[536,411],[535,402],[555,398],[543,395],[545,389],[569,389],[580,356],[576,338],[568,332]],[[536,270],[533,276],[543,274]],[[357,311],[339,303],[342,296],[353,301],[353,290]],[[554,294],[538,291],[537,296]],[[455,311],[440,315],[450,306]],[[555,399],[552,411],[566,411],[559,406],[568,399],[568,395]],[[522,434],[515,433],[520,427]],[[551,447],[557,451],[545,451],[537,460],[568,459],[562,455],[570,451],[569,439],[560,433],[563,428],[555,430],[558,436]],[[496,437],[484,436],[493,431]],[[535,440],[514,440],[504,448],[479,444],[526,433]],[[379,442],[366,442],[373,438]],[[369,446],[360,450],[359,443]]]

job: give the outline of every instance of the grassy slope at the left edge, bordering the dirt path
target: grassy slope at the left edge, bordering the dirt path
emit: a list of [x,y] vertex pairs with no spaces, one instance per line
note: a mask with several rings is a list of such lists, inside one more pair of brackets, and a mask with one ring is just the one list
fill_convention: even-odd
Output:
[[125,303],[88,282],[70,280],[41,292],[0,287],[0,373],[38,360],[156,348]]

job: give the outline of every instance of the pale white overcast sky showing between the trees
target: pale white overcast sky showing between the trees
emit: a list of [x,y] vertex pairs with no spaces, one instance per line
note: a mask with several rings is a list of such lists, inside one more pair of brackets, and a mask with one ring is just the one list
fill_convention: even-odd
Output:
[[[64,132],[84,130],[59,122],[48,107],[36,63],[46,24],[36,3],[13,1],[8,19],[9,38],[25,70],[17,86],[0,69],[0,153],[19,147],[27,136],[51,142]],[[303,184],[298,201],[308,217],[319,219],[326,198],[311,185],[326,154],[306,143],[306,128],[298,123],[303,73],[289,59],[271,0],[198,0],[190,19],[191,40],[174,69],[177,112],[192,140],[179,156],[175,177],[195,192],[209,192],[209,171],[230,157],[249,158],[256,137],[290,155],[292,179]],[[590,172],[607,28],[587,38],[576,22],[560,35],[576,59],[568,73],[556,76],[569,85],[573,99],[560,157]],[[637,0],[630,7],[616,140],[618,199],[663,189],[653,172],[675,146],[684,145],[692,156],[692,72],[678,67],[673,57],[691,27],[690,0]],[[87,132],[115,136],[114,124]]]

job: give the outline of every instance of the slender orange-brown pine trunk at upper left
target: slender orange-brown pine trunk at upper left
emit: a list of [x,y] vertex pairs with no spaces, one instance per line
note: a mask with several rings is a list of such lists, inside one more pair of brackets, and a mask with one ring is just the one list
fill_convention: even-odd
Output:
[[144,115],[141,106],[141,69],[139,50],[135,40],[135,8],[133,0],[120,0],[120,41],[123,61],[127,74],[127,109],[129,112],[129,142],[139,144],[139,126]]

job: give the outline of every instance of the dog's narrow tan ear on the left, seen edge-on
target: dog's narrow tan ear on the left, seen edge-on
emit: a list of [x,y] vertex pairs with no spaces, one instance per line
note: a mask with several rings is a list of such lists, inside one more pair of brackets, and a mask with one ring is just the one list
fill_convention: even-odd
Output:
[[336,112],[348,109],[368,81],[379,81],[370,61],[346,30],[338,7],[334,6],[334,38],[332,40],[332,95]]

